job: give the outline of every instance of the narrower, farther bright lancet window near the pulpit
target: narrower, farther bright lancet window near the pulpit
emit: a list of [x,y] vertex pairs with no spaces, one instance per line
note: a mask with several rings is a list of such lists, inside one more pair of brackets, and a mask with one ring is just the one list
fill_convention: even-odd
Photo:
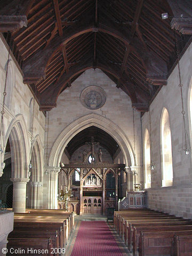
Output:
[[150,170],[150,138],[146,129],[144,137],[144,166],[145,166],[145,188],[151,187],[151,170]]

